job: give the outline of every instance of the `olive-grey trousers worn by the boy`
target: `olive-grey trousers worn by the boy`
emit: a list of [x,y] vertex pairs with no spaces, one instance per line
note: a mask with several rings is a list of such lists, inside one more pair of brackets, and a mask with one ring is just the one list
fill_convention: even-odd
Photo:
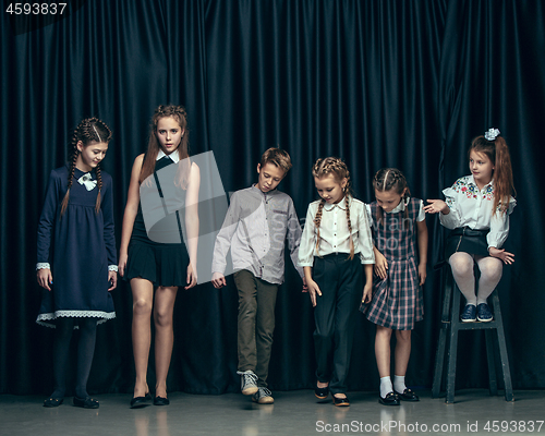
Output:
[[246,269],[233,277],[239,290],[239,371],[252,370],[258,377],[257,385],[266,387],[278,284],[262,280]]

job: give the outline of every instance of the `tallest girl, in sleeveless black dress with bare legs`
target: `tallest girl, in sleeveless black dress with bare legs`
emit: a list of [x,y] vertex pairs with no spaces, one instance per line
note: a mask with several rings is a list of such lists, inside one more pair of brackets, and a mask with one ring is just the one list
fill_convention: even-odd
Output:
[[[174,300],[179,287],[189,289],[197,281],[197,202],[201,175],[198,166],[189,158],[187,144],[185,109],[181,106],[159,106],[152,119],[147,153],[136,157],[131,174],[119,253],[120,275],[130,280],[133,293],[132,338],[136,382],[131,408],[145,407],[152,399],[146,379],[152,343],[152,312],[155,322],[154,404],[169,404],[167,374],[174,340]],[[174,170],[169,172],[172,168]],[[165,171],[173,174],[170,184],[165,183],[165,177],[161,175]],[[159,179],[162,183],[159,183]],[[154,187],[155,183],[157,187]],[[184,213],[179,214],[177,210],[175,215],[171,216],[178,220],[180,231],[185,233],[185,237],[177,237],[177,227],[174,237],[178,240],[166,243],[149,239],[144,215],[149,217],[150,210],[143,210],[147,204],[142,204],[142,201],[153,196],[155,190],[156,196],[160,195],[167,207],[171,201],[166,194],[172,191],[170,185],[180,187],[175,191],[184,204]],[[162,210],[162,206],[159,209]],[[186,247],[183,240],[187,241]],[[154,288],[157,288],[155,299]]]

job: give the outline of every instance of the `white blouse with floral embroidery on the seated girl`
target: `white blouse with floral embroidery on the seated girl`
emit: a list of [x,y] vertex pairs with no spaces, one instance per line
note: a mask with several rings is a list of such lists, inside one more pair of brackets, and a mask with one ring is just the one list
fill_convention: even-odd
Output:
[[491,181],[479,190],[473,175],[465,175],[456,181],[452,187],[443,190],[446,203],[450,208],[447,215],[439,213],[439,220],[447,229],[469,227],[473,230],[491,231],[486,235],[488,249],[501,249],[509,234],[509,215],[517,205],[513,197],[509,199],[509,209],[502,211],[500,206],[492,210],[494,204],[494,183]]

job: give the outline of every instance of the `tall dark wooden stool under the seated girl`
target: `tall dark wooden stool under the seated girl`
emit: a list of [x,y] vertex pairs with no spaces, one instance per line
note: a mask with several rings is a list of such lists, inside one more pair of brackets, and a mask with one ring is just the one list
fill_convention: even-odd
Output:
[[[434,384],[432,387],[432,397],[439,396],[443,366],[445,359],[447,360],[447,404],[455,402],[455,380],[456,380],[456,358],[458,348],[458,331],[459,330],[484,330],[486,339],[486,358],[488,361],[488,377],[491,395],[498,395],[498,386],[496,382],[496,366],[494,359],[494,342],[493,336],[496,330],[499,346],[499,355],[501,359],[501,370],[504,373],[504,385],[506,401],[514,401],[511,386],[511,372],[509,370],[509,359],[507,355],[506,338],[504,335],[504,322],[501,319],[501,310],[499,307],[499,298],[497,289],[491,294],[492,306],[494,307],[494,319],[489,323],[462,323],[460,320],[460,290],[452,277],[450,266],[447,264],[444,267],[443,274],[445,282],[445,295],[443,299],[443,316],[441,329],[439,332],[439,343],[437,354],[435,356]],[[446,344],[448,340],[448,353],[445,355]]]

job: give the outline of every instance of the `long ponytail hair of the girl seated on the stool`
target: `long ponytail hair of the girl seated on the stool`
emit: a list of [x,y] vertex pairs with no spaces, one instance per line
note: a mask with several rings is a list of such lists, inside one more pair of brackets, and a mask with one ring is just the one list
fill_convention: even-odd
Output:
[[514,191],[512,183],[511,156],[502,136],[496,136],[488,141],[484,136],[477,136],[471,142],[468,156],[471,152],[484,153],[494,165],[492,180],[494,180],[494,203],[492,210],[507,211],[511,192]]

